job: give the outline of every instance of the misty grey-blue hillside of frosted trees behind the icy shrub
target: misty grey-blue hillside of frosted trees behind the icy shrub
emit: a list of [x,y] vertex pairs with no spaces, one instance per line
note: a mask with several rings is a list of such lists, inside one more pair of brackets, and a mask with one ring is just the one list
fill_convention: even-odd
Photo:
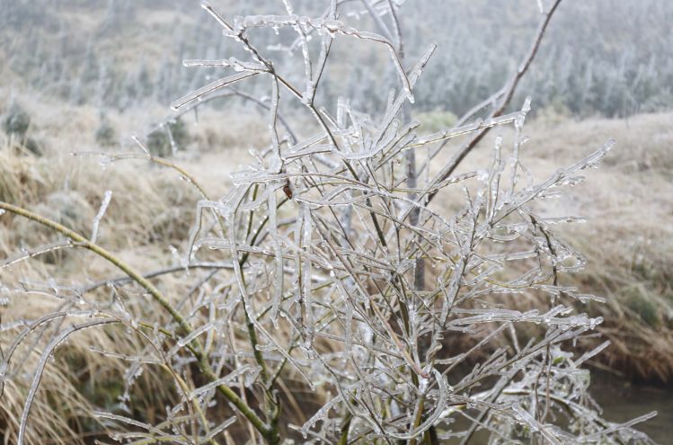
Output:
[[[276,0],[212,3],[225,13],[285,13]],[[302,13],[320,13],[327,5],[314,0],[294,4]],[[376,31],[367,14],[360,16],[361,8],[353,2],[341,19]],[[539,20],[535,0],[407,1],[403,12],[407,67],[431,42],[438,43],[416,87],[415,110],[456,115],[505,83],[527,51]],[[660,0],[564,1],[513,106],[531,95],[533,113],[574,118],[671,109],[671,22],[673,6]],[[281,30],[281,41],[284,33],[290,44],[292,31]],[[253,39],[264,48],[265,40],[270,43],[278,36],[260,31]],[[267,48],[269,53],[273,50]],[[385,50],[343,39],[334,50],[348,58],[332,59],[349,63],[330,70],[321,106],[334,106],[345,93],[363,111],[380,109],[387,96],[380,80],[394,85],[395,76]],[[221,28],[198,1],[0,2],[0,88],[5,93],[39,93],[118,111],[148,101],[167,106],[218,76],[215,69],[185,68],[183,59],[230,56],[242,55],[234,42],[222,37]],[[298,61],[283,59],[286,65]],[[259,85],[245,87],[256,93]]]

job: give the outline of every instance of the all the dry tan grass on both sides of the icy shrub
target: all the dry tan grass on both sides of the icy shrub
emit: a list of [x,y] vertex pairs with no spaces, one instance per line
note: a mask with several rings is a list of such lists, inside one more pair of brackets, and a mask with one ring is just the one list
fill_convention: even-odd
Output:
[[[185,242],[199,200],[190,184],[180,181],[174,171],[146,161],[121,161],[103,168],[98,158],[69,156],[73,151],[97,149],[93,138],[99,125],[97,113],[85,107],[64,110],[47,102],[30,103],[34,121],[31,135],[40,139],[46,154],[26,154],[0,136],[0,199],[19,203],[88,234],[103,192],[111,190],[113,199],[102,222],[101,244],[140,271],[175,263],[168,245],[179,247]],[[161,111],[128,111],[124,117],[111,114],[110,119],[120,135],[128,135],[143,132],[160,115]],[[239,125],[235,128],[223,128],[222,121],[226,120],[221,114],[203,115],[198,128],[190,126],[192,141],[178,156],[179,164],[195,173],[213,197],[226,192],[228,172],[244,164],[247,148],[265,143],[258,136],[264,134],[264,123],[254,116],[236,118]],[[589,172],[588,182],[571,196],[550,202],[547,211],[553,213],[561,208],[559,213],[589,219],[589,224],[563,229],[589,259],[586,271],[563,279],[608,299],[607,305],[585,307],[606,318],[599,330],[613,341],[595,364],[662,380],[673,375],[673,227],[667,224],[673,215],[671,121],[673,114],[643,115],[631,120],[539,120],[527,126],[531,140],[525,155],[526,166],[544,176],[579,158],[580,153],[601,146],[607,138],[617,139],[618,148],[607,164]],[[488,162],[489,145],[490,141],[484,142],[464,168]],[[137,147],[131,146],[113,150],[138,152]],[[447,199],[435,205],[446,209],[453,204]],[[55,239],[32,224],[8,215],[0,218],[2,258],[16,252],[17,247]],[[68,252],[44,255],[30,264],[0,270],[0,282],[46,282],[48,277],[69,282],[115,275],[108,265],[91,255]],[[162,280],[161,286],[172,289],[173,295],[181,295],[189,289],[190,280],[196,279],[179,274]],[[96,298],[106,298],[104,290]],[[137,299],[142,302],[142,298]],[[45,301],[39,295],[30,301],[13,299],[0,307],[0,316],[6,323],[47,313],[53,307],[44,307]],[[518,304],[521,308],[535,307],[540,301],[528,296]],[[142,314],[151,308],[136,309]],[[3,350],[14,334],[13,329],[0,332]],[[31,414],[30,443],[44,443],[38,440],[44,437],[54,438],[54,443],[80,443],[73,439],[77,434],[102,429],[102,425],[90,420],[88,412],[91,405],[110,407],[119,402],[127,363],[108,360],[92,352],[92,346],[120,353],[142,350],[140,340],[123,329],[105,328],[75,335],[58,350],[57,360],[50,362],[44,373],[37,409]],[[28,354],[28,369],[38,359],[38,352],[40,348]],[[0,431],[5,443],[15,438],[29,380],[26,378],[23,386],[4,388]],[[131,395],[133,403],[129,405],[135,410],[132,414],[150,422],[159,415],[156,407],[164,406],[164,401],[174,396],[167,382],[160,371],[141,376]],[[293,387],[287,392],[287,396],[294,393],[298,400],[291,404],[296,406],[298,417],[302,399],[309,398],[299,394],[299,390]]]

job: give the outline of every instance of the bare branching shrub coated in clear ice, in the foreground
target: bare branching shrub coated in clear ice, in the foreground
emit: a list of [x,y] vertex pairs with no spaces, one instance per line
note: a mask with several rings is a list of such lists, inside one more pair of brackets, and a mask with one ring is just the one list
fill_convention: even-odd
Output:
[[[198,174],[155,157],[143,138],[136,138],[136,153],[104,158],[107,164],[140,157],[174,168],[202,195],[190,239],[173,247],[174,266],[146,275],[96,244],[111,192],[89,234],[0,202],[2,218],[28,218],[62,237],[0,266],[86,249],[126,276],[5,289],[11,298],[39,292],[58,301],[46,316],[2,320],[2,331],[14,334],[0,360],[2,386],[26,373],[31,380],[18,443],[31,430],[32,402],[58,346],[110,325],[124,326],[146,345],[133,354],[92,347],[105,360],[128,362],[120,405],[93,413],[114,441],[649,443],[632,427],[654,414],[610,423],[587,392],[589,371],[582,366],[607,343],[572,352],[602,321],[577,313],[573,303],[601,298],[563,285],[563,275],[585,260],[554,227],[583,219],[549,204],[582,182],[613,141],[587,147],[577,163],[537,179],[526,167],[527,151],[535,149],[524,129],[530,101],[506,112],[559,3],[539,2],[536,36],[506,85],[453,127],[431,134],[410,116],[436,45],[418,51],[419,58],[405,57],[402,19],[411,5],[332,0],[305,16],[284,0],[282,14],[232,17],[202,4],[244,57],[185,61],[223,74],[172,107],[178,115],[193,112],[255,78],[266,85],[254,99],[268,111],[270,145],[253,151],[256,161],[232,174],[233,187],[219,199],[207,196]],[[359,30],[353,18],[367,14],[374,31]],[[273,50],[255,43],[261,31],[279,34]],[[316,101],[335,40],[373,45],[385,55],[395,76],[376,85],[388,94],[382,108],[365,113],[347,96]],[[314,124],[293,128],[283,118],[290,108]],[[495,139],[489,165],[456,173],[488,131],[506,127],[514,137]],[[456,141],[446,164],[433,163]],[[462,206],[435,205],[442,194],[463,196]],[[184,295],[153,281],[202,269],[210,272]],[[107,298],[93,294],[102,287]],[[510,309],[524,293],[546,308]],[[40,360],[26,360],[31,344],[44,337]],[[156,407],[155,423],[134,419],[126,405],[143,372],[169,375],[177,395],[174,405]],[[290,380],[322,395],[307,418],[292,414]]]

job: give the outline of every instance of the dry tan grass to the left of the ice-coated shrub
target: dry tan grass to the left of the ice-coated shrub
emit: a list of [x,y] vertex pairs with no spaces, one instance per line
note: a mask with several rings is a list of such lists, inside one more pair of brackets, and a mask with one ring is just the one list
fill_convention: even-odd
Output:
[[[175,263],[169,245],[180,248],[188,238],[194,220],[199,193],[180,174],[144,160],[118,161],[102,165],[99,156],[71,156],[75,151],[101,150],[96,147],[94,133],[99,125],[98,113],[88,107],[63,107],[50,102],[23,100],[33,119],[29,134],[40,139],[44,156],[33,156],[12,138],[0,134],[0,200],[32,209],[83,234],[90,234],[93,218],[104,191],[112,191],[111,205],[102,221],[99,242],[120,255],[139,271],[152,271]],[[2,110],[0,110],[0,114]],[[148,114],[152,114],[151,112]],[[154,116],[163,116],[157,111]],[[151,128],[153,119],[146,111],[129,112],[125,119],[109,116],[119,134],[141,134]],[[156,119],[158,120],[158,119]],[[240,141],[249,139],[262,144],[259,122],[241,119],[236,129],[222,131],[217,120],[208,115],[199,121],[190,147],[179,154],[180,164],[195,172],[208,194],[225,193],[228,172],[235,164],[244,163],[246,148]],[[141,153],[130,144],[113,147],[112,152]],[[223,153],[225,156],[223,157]],[[224,159],[224,161],[223,161]],[[238,162],[235,162],[238,160]],[[20,248],[31,248],[58,240],[53,232],[26,223],[9,215],[0,220],[0,258],[16,254]],[[86,282],[118,276],[119,272],[102,260],[80,251],[64,250],[43,254],[31,262],[17,263],[0,269],[0,301],[12,295],[12,287],[22,285],[37,289],[53,277],[61,285],[73,281]],[[197,280],[196,278],[194,280]],[[163,289],[173,296],[186,293],[190,277],[177,274],[162,280]],[[110,298],[101,289],[93,298]],[[0,303],[0,320],[7,328],[0,332],[0,348],[5,352],[19,332],[11,323],[23,317],[38,318],[56,310],[53,298],[41,298],[34,292],[30,300],[9,298]],[[143,298],[129,298],[139,307],[129,308],[142,318],[156,319],[152,305],[142,307]],[[146,316],[143,316],[146,314]],[[4,387],[0,407],[0,437],[4,443],[16,441],[23,403],[31,384],[31,372],[40,359],[44,343],[40,340],[32,351],[16,352],[27,357],[24,378],[13,378]],[[92,405],[112,409],[120,403],[124,391],[124,373],[128,363],[111,360],[93,352],[91,347],[121,354],[142,351],[140,339],[124,329],[108,327],[75,334],[58,349],[57,359],[49,362],[40,390],[31,410],[31,428],[27,443],[83,443],[75,440],[82,432],[95,434],[103,427],[91,420]],[[163,407],[175,391],[171,378],[157,370],[155,375],[142,375],[131,392],[128,406],[132,417],[155,423]],[[88,401],[88,402],[87,402]],[[90,405],[91,403],[91,405]],[[45,442],[50,438],[51,442]],[[60,438],[60,439],[59,439]]]

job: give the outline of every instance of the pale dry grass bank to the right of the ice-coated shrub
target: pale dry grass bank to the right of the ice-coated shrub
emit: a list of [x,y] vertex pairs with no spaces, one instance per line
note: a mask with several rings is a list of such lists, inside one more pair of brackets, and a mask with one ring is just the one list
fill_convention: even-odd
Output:
[[[616,139],[604,165],[587,172],[586,182],[573,192],[549,200],[545,214],[576,215],[588,221],[556,230],[588,260],[584,271],[566,274],[562,282],[607,298],[605,305],[578,303],[580,310],[605,318],[598,331],[612,341],[593,364],[627,377],[664,382],[673,377],[671,122],[671,113],[629,120],[537,120],[525,129],[530,140],[524,155],[524,164],[536,177],[545,177],[607,138]],[[510,135],[502,136],[507,141]],[[464,170],[489,162],[494,137],[468,158]],[[438,205],[452,204],[447,199]],[[528,298],[515,304],[540,304],[536,297]]]

